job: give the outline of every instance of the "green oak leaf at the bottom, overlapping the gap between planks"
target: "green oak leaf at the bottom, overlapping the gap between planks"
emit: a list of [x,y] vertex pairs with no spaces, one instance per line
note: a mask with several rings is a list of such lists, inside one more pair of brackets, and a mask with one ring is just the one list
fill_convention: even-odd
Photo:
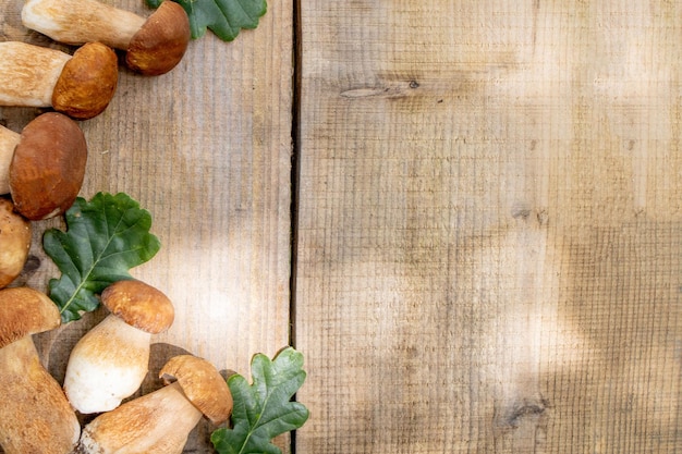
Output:
[[240,375],[228,379],[234,400],[232,429],[218,429],[210,437],[219,454],[281,454],[272,439],[308,419],[308,409],[291,401],[306,377],[300,352],[287,347],[273,360],[258,354],[251,369],[251,385]]

